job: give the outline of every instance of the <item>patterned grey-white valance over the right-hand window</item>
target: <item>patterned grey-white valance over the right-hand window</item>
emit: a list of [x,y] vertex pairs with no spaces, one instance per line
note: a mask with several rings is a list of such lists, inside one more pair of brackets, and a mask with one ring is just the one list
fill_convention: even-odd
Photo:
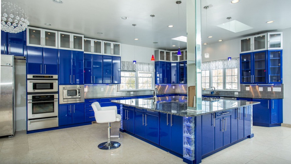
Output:
[[201,70],[216,70],[223,68],[239,68],[239,57],[232,58],[230,61],[227,59],[205,61],[201,64]]

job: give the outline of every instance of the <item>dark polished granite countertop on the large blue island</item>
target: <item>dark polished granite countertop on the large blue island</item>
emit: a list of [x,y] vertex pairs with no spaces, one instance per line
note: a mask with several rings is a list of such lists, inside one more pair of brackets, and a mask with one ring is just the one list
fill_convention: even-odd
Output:
[[187,96],[158,97],[157,103],[154,103],[154,100],[152,99],[142,99],[142,98],[128,100],[113,100],[111,102],[183,117],[195,117],[203,114],[209,114],[259,104],[259,102],[239,101],[239,100],[217,100],[212,102],[202,101],[202,104],[200,105],[202,108],[201,111],[191,112],[189,110],[187,111],[186,98]]

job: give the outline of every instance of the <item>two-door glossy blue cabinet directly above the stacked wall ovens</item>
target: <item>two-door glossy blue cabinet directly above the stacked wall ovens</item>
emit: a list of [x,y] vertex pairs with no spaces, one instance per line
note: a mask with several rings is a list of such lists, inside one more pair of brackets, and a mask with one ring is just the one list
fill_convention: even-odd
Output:
[[27,46],[27,74],[57,75],[58,49]]

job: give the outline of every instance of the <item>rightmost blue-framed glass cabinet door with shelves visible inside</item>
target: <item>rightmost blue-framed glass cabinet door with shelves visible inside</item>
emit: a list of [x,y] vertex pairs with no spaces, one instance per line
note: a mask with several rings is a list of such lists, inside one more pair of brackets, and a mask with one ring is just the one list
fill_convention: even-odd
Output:
[[283,50],[268,50],[268,83],[283,83]]

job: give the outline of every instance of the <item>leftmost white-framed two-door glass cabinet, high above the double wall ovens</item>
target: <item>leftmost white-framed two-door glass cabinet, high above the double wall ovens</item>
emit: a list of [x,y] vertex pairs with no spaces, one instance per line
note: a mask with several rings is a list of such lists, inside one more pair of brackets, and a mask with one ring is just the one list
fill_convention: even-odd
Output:
[[27,27],[27,45],[58,48],[57,33],[58,31]]

